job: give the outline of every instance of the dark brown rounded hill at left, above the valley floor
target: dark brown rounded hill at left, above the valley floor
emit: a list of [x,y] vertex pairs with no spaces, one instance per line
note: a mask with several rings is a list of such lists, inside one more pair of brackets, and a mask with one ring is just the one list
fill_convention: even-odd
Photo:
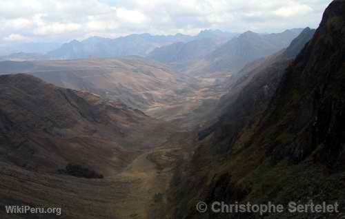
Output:
[[147,147],[140,132],[149,124],[159,125],[123,103],[55,87],[27,74],[0,76],[0,85],[1,157],[28,169],[54,171],[68,161],[92,160],[97,169],[110,159],[113,165],[121,163],[113,156]]

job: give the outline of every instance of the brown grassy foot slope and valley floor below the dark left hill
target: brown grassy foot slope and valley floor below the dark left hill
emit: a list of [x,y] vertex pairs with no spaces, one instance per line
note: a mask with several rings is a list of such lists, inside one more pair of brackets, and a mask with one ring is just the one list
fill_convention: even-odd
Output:
[[[150,149],[120,173],[101,180],[37,174],[1,163],[0,205],[61,207],[62,216],[44,218],[156,218],[155,209],[166,202],[171,164],[180,153],[177,147]],[[0,209],[0,218],[26,216]]]

